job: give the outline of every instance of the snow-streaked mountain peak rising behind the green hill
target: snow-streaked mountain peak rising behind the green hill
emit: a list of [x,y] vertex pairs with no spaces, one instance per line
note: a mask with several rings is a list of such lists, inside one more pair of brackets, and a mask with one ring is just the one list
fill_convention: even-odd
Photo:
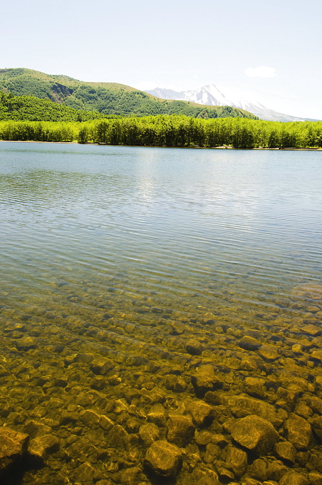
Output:
[[278,113],[270,108],[266,108],[256,99],[245,99],[232,89],[215,84],[203,86],[195,91],[177,92],[172,89],[155,88],[151,91],[146,91],[146,93],[163,99],[178,99],[210,106],[232,106],[234,108],[242,108],[243,110],[250,111],[263,120],[305,121],[308,119]]

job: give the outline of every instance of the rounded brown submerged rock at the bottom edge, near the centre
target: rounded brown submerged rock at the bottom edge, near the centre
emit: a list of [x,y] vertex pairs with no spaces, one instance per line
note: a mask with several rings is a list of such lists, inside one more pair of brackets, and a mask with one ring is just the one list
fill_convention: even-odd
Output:
[[145,468],[160,477],[175,477],[181,465],[179,448],[167,441],[155,441],[145,454]]

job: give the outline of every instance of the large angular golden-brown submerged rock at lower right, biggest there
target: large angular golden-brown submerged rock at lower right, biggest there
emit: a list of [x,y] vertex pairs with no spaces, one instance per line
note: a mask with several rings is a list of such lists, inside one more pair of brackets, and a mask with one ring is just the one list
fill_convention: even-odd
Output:
[[231,436],[237,443],[257,454],[268,453],[279,439],[273,425],[255,415],[246,416],[236,422]]

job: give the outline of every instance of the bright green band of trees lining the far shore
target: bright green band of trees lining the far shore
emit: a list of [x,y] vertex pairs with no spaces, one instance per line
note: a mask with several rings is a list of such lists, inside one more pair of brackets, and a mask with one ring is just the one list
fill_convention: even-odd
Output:
[[318,148],[322,147],[322,121],[283,123],[175,114],[69,123],[0,121],[0,139],[138,146]]

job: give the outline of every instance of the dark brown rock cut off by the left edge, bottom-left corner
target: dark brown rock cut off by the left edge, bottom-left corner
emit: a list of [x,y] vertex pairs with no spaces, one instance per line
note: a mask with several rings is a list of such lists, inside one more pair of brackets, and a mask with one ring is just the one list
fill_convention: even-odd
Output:
[[0,428],[0,476],[16,465],[27,452],[29,436],[5,426]]

